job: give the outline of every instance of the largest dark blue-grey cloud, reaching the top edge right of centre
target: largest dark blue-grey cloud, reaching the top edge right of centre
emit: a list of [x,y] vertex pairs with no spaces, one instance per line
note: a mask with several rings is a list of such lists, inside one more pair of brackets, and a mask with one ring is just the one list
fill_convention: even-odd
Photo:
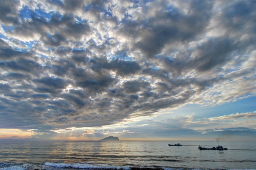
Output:
[[[127,36],[134,36],[134,39],[139,36],[142,40],[135,43],[134,48],[141,49],[147,57],[153,57],[161,53],[167,43],[190,41],[206,29],[212,15],[213,1],[188,2],[190,12],[187,15],[176,7],[170,6],[167,10],[161,6],[163,9],[158,10],[155,17],[123,23],[120,31]],[[145,8],[143,15],[146,17],[146,12],[150,10]]]

